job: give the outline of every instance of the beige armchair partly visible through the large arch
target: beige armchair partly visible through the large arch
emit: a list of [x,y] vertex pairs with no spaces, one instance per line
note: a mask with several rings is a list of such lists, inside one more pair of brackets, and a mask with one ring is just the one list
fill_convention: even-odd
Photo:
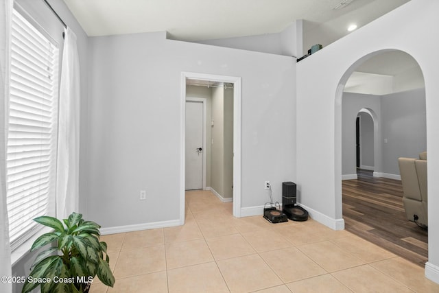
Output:
[[398,163],[407,220],[427,227],[427,152],[420,153],[419,159],[399,158]]

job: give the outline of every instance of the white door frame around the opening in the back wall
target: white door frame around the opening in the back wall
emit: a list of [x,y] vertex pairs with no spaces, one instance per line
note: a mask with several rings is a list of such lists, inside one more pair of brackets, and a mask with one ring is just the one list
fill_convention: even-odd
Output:
[[241,78],[236,76],[182,72],[180,93],[180,224],[185,224],[185,121],[186,81],[213,80],[233,84],[233,216],[241,217]]

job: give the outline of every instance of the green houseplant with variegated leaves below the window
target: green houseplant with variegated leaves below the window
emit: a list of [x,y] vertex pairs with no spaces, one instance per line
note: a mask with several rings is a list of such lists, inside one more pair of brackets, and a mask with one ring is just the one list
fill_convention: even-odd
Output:
[[84,221],[82,214],[72,213],[62,222],[43,215],[35,222],[49,226],[54,231],[38,237],[31,251],[47,244],[51,247],[40,252],[31,266],[31,272],[23,286],[23,293],[40,285],[42,293],[88,292],[93,278],[97,275],[105,285],[113,286],[115,277],[108,265],[107,245],[99,242],[99,226],[95,222]]

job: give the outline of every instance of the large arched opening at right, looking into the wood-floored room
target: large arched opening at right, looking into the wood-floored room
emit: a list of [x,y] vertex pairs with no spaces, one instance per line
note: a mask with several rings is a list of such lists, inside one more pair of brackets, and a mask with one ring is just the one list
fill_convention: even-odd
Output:
[[[341,104],[342,119],[335,119],[335,128],[341,129],[336,139],[342,150],[335,159],[341,161],[343,179],[336,202],[342,202],[346,230],[424,266],[428,235],[405,217],[398,167],[399,157],[418,158],[427,149],[425,84],[418,63],[398,50],[368,54],[344,73],[335,103]],[[337,117],[337,106],[335,112]],[[366,155],[369,163],[361,162],[361,136],[357,148],[357,117],[373,121],[373,135],[367,130],[369,151],[373,140],[372,161]],[[357,177],[357,165],[373,173]]]

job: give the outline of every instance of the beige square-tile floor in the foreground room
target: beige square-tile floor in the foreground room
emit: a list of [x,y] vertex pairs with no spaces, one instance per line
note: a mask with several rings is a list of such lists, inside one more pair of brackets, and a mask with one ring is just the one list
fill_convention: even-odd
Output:
[[186,193],[183,226],[105,235],[116,283],[99,292],[439,292],[419,266],[347,231],[234,218],[210,191]]

